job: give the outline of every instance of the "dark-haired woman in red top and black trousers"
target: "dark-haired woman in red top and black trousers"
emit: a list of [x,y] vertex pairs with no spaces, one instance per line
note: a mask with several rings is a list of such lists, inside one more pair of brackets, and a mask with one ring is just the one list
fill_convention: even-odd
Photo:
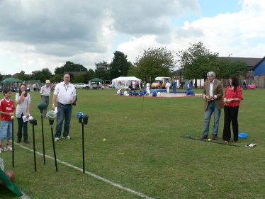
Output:
[[230,76],[230,86],[225,89],[224,98],[224,113],[225,113],[225,124],[224,131],[222,133],[222,140],[226,143],[231,139],[231,128],[230,123],[232,121],[232,129],[234,133],[234,142],[238,140],[238,122],[237,115],[239,110],[240,101],[242,101],[242,89],[239,86],[238,79],[235,75]]

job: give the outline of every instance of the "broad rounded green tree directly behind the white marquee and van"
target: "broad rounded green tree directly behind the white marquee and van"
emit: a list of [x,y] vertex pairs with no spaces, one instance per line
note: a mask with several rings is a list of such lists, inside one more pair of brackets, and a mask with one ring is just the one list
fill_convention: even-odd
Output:
[[155,76],[170,76],[176,64],[175,52],[166,47],[149,48],[136,58],[134,66],[130,67],[129,75],[140,79],[154,79]]

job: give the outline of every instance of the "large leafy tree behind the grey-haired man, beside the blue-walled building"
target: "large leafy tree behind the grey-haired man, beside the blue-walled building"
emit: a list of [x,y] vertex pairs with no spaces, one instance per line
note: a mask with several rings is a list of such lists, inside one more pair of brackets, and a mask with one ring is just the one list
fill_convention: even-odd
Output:
[[240,60],[231,62],[230,55],[227,58],[218,55],[218,52],[210,52],[203,42],[191,45],[188,50],[179,50],[179,64],[185,79],[206,79],[210,71],[215,72],[218,79],[229,79],[232,74],[244,76],[247,73],[247,63]]

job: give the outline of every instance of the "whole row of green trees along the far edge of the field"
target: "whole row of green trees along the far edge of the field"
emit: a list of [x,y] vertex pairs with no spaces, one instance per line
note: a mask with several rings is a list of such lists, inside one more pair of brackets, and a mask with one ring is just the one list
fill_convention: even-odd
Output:
[[[72,83],[86,83],[89,79],[98,77],[103,80],[115,79],[118,76],[137,76],[142,80],[154,80],[156,76],[172,76],[174,68],[181,68],[179,78],[185,79],[206,79],[207,72],[215,72],[218,79],[229,79],[229,76],[247,74],[247,63],[242,61],[231,62],[227,55],[226,58],[218,57],[218,52],[210,52],[203,45],[203,42],[189,44],[187,50],[178,50],[177,52],[167,50],[166,47],[148,48],[140,52],[132,64],[128,61],[127,55],[123,52],[115,51],[111,63],[105,61],[95,63],[96,69],[86,69],[81,64],[66,62],[62,67],[55,69],[55,74],[50,69],[33,71],[32,74],[25,74],[21,71],[18,79],[21,80],[40,80],[45,82],[50,79],[52,82],[59,82],[64,72],[70,72]],[[83,74],[74,74],[71,72],[83,72]],[[0,81],[11,75],[1,75]]]

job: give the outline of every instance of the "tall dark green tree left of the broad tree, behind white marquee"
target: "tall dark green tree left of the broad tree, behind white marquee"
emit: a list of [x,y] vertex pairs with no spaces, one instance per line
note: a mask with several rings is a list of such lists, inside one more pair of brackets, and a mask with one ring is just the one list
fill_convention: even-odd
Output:
[[115,51],[113,60],[110,64],[109,79],[115,79],[118,76],[127,76],[131,62],[128,62],[127,55],[123,52]]

